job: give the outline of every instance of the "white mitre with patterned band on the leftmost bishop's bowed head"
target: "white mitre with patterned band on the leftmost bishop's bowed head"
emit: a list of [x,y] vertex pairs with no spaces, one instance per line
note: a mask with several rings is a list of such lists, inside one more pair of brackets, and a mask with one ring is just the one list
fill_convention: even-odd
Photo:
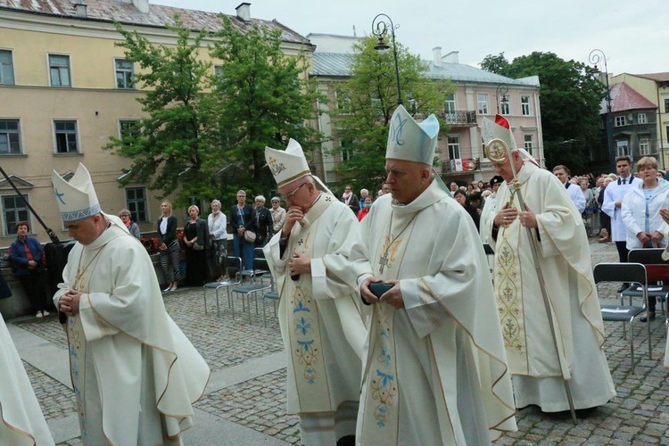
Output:
[[54,194],[62,221],[87,219],[100,213],[100,202],[97,201],[91,175],[80,162],[70,182],[63,179],[55,170],[51,174],[51,182],[54,184]]

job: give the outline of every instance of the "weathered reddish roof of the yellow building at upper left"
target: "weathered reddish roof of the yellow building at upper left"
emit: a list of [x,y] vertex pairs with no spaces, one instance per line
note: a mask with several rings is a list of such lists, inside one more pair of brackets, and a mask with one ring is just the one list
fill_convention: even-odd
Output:
[[[76,2],[72,0],[0,0],[0,11],[30,12],[74,20],[119,21],[124,25],[154,28],[165,28],[166,25],[173,25],[174,14],[178,13],[187,29],[217,31],[221,28],[219,14],[216,12],[149,4],[149,12],[144,13],[140,12],[132,3],[121,2],[120,0],[84,0],[82,3],[87,5],[86,18],[77,16]],[[269,29],[281,29],[281,39],[284,42],[310,45],[306,37],[302,37],[293,29],[286,28],[276,20],[265,21],[252,18],[245,22],[235,15],[228,15],[228,17],[239,29],[248,29],[252,25],[262,25]]]

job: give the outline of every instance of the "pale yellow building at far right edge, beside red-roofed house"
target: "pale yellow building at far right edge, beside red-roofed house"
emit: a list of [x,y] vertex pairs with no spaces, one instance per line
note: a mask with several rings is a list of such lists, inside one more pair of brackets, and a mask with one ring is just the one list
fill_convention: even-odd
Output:
[[[659,154],[659,164],[663,169],[669,168],[669,72],[629,74],[622,73],[609,78],[609,84],[625,83],[637,93],[657,106],[657,137],[649,141],[650,153]],[[624,121],[632,125],[634,120]],[[617,126],[614,122],[615,127]]]

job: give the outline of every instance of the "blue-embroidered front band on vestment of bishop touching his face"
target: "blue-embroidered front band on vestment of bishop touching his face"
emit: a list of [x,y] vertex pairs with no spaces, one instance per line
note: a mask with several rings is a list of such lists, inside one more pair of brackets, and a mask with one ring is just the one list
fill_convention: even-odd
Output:
[[[320,196],[305,214],[304,219],[293,227],[285,255],[293,255],[293,251],[296,251],[307,255],[310,259],[314,258],[318,221],[315,224],[312,222],[335,201],[335,197],[331,194],[323,193]],[[285,331],[290,343],[286,346],[286,351],[289,352],[293,364],[292,379],[297,390],[299,410],[332,412],[337,408],[333,407],[333,401],[330,399],[318,306],[313,297],[311,278],[301,276],[294,281],[289,276],[290,271],[286,265],[284,289],[280,293],[281,301],[285,301],[282,318],[286,321]]]

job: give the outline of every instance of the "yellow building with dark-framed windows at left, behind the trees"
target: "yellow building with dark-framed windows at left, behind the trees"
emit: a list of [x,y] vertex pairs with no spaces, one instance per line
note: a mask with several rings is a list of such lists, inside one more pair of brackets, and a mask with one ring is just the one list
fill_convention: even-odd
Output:
[[[102,147],[142,116],[133,84],[136,63],[115,46],[120,34],[112,21],[139,32],[154,44],[174,45],[165,25],[178,12],[187,28],[216,30],[218,14],[150,4],[147,0],[0,1],[0,166],[45,224],[63,239],[51,172],[74,172],[82,162],[91,172],[103,211],[128,208],[143,232],[160,217],[155,193],[142,184],[120,187],[130,161]],[[252,24],[278,28],[285,54],[313,51],[304,37],[277,21],[251,17],[250,4],[231,16],[240,29]],[[203,42],[206,46],[211,42]],[[206,49],[200,54],[210,59]],[[214,69],[216,61],[213,62]],[[12,187],[0,178],[0,247],[14,239],[16,221],[28,219],[31,232],[49,240]],[[179,224],[184,211],[178,210]]]

